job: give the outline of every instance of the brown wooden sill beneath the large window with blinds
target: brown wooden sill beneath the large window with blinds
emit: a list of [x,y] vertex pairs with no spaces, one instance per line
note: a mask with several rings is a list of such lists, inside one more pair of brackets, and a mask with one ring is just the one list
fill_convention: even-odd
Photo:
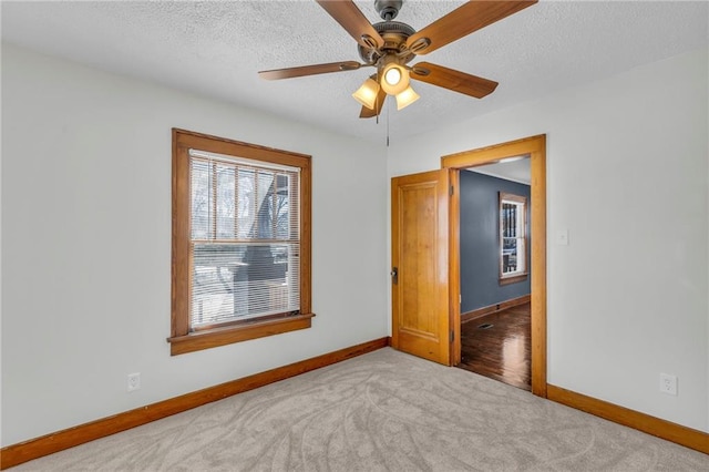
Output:
[[281,332],[296,331],[310,328],[310,319],[315,314],[295,315],[284,318],[256,321],[248,325],[215,328],[205,331],[191,332],[185,336],[167,338],[169,355],[178,356],[249,339],[264,338],[266,336],[280,335]]

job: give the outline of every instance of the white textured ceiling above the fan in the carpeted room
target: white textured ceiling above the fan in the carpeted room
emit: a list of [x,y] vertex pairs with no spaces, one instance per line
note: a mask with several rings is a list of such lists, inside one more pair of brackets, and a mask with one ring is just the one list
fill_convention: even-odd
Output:
[[[373,0],[356,3],[380,21]],[[459,4],[405,1],[397,20],[420,30]],[[387,106],[378,124],[360,120],[350,96],[371,69],[258,78],[359,60],[356,42],[314,1],[3,1],[1,13],[3,41],[377,142],[387,115],[400,140],[709,43],[705,1],[542,1],[418,58],[495,80],[493,94],[476,100],[414,82],[421,100]]]

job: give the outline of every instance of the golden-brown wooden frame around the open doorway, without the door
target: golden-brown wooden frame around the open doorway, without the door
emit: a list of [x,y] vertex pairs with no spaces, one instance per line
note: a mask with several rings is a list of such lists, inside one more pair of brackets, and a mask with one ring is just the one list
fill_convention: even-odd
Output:
[[453,172],[456,189],[449,206],[449,284],[451,325],[454,330],[451,360],[461,361],[460,306],[460,170],[493,164],[505,157],[528,156],[531,161],[532,239],[532,393],[546,398],[546,135],[530,136],[493,146],[441,157],[441,167]]

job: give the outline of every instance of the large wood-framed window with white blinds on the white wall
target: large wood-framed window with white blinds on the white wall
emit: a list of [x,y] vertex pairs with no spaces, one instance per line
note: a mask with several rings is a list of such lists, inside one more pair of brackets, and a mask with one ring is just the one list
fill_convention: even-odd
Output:
[[173,356],[310,327],[310,156],[173,130]]

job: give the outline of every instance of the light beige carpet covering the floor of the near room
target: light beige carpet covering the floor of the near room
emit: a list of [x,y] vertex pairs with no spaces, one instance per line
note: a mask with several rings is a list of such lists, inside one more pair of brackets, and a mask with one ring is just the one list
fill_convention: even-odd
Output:
[[709,456],[381,349],[13,471],[708,471]]

